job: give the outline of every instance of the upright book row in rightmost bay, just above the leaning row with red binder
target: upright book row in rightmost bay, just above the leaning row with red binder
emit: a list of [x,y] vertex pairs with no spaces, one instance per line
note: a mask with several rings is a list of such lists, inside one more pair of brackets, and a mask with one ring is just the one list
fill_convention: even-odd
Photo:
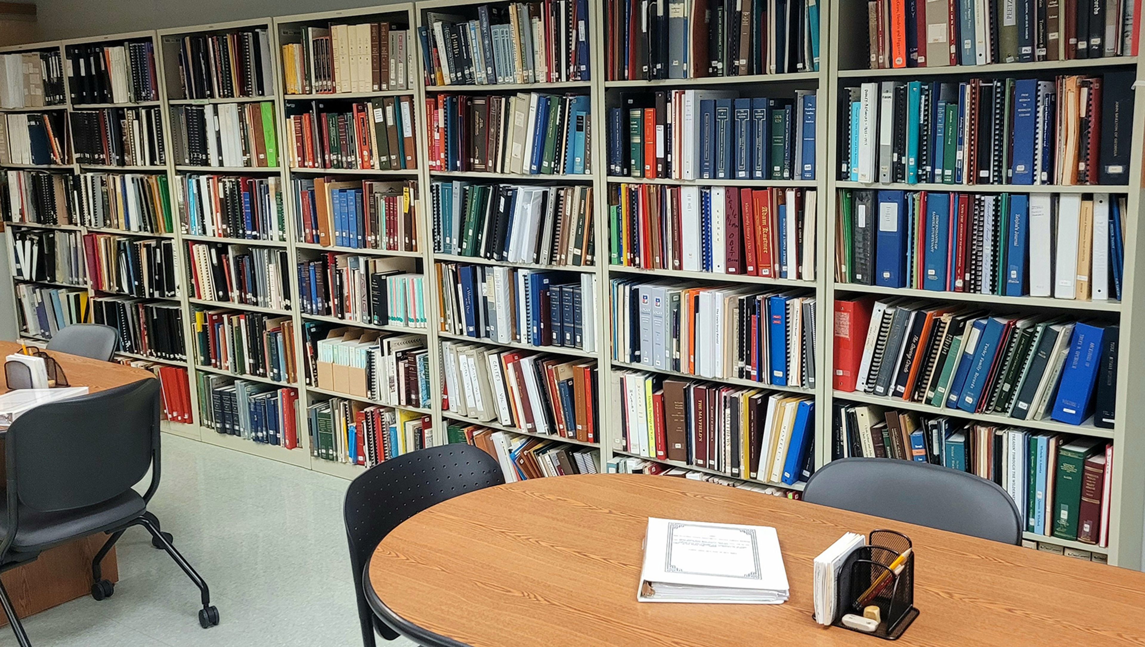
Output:
[[1127,197],[1108,193],[842,191],[836,280],[1121,299],[1126,211]]

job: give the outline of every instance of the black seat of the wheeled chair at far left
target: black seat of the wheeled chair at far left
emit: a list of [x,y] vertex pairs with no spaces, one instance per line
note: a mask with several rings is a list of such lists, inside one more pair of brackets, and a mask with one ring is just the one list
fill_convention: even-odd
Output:
[[[147,502],[135,490],[95,505],[63,512],[40,512],[22,505],[19,526],[13,540],[15,552],[39,552],[77,537],[121,526],[147,511]],[[0,501],[0,536],[8,533],[8,505]]]

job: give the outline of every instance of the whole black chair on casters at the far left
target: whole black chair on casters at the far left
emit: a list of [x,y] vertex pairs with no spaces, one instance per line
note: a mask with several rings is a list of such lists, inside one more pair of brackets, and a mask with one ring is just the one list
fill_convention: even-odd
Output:
[[[142,380],[98,393],[31,409],[8,428],[8,494],[0,510],[0,572],[31,561],[53,546],[106,533],[92,560],[92,597],[114,592],[100,562],[124,532],[143,526],[199,588],[199,624],[219,624],[206,582],[152,522],[148,502],[159,487],[159,381]],[[132,486],[151,469],[140,496]],[[22,647],[31,645],[0,583],[0,605]]]

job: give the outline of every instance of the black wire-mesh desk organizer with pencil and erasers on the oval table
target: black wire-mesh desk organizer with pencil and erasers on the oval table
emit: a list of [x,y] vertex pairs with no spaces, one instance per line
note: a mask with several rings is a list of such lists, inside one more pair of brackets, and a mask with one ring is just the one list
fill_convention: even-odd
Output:
[[915,554],[914,551],[907,557],[907,561],[894,575],[889,568],[894,558],[905,550],[911,548],[910,538],[902,533],[894,530],[871,530],[867,540],[867,545],[856,549],[843,562],[839,569],[839,581],[836,585],[838,600],[836,600],[835,622],[832,626],[856,631],[848,626],[843,626],[843,616],[846,614],[862,615],[862,607],[856,602],[879,576],[884,576],[886,583],[875,598],[866,606],[877,606],[882,617],[872,633],[884,640],[898,640],[906,632],[910,623],[918,617],[918,609],[915,608]]

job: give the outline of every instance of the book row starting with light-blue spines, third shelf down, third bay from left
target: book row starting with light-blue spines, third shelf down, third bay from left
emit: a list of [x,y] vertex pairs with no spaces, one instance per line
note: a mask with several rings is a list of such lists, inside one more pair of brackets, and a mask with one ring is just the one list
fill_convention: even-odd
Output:
[[181,175],[175,198],[183,233],[286,241],[282,183],[275,176]]

